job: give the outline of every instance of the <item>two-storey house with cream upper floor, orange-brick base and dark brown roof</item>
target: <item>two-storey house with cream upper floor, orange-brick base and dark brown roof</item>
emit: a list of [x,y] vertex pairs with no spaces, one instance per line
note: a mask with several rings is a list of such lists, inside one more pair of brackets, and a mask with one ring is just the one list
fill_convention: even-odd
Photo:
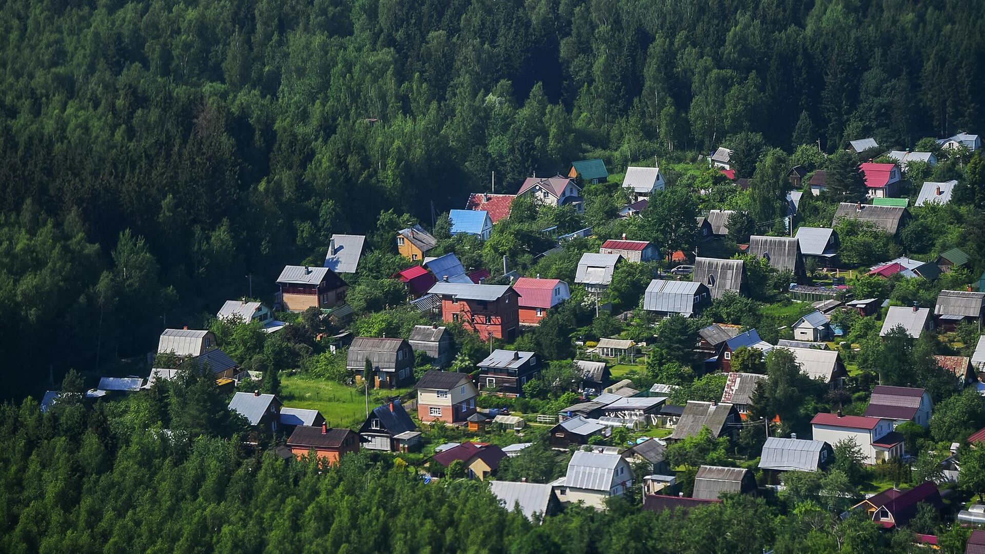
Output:
[[415,388],[421,421],[461,423],[476,413],[479,390],[468,374],[430,370]]

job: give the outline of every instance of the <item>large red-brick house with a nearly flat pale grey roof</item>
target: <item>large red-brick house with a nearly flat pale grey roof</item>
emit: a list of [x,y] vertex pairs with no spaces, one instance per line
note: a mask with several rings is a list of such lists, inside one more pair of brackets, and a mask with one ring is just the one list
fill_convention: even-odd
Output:
[[508,285],[476,285],[438,281],[430,294],[441,299],[441,319],[489,337],[513,340],[520,326],[520,295]]

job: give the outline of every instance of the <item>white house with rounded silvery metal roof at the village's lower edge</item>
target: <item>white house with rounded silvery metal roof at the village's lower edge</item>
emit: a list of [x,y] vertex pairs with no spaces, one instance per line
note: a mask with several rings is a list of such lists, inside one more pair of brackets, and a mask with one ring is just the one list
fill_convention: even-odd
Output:
[[567,463],[567,473],[551,485],[561,502],[584,502],[605,510],[607,498],[621,496],[632,487],[632,470],[619,454],[577,450]]

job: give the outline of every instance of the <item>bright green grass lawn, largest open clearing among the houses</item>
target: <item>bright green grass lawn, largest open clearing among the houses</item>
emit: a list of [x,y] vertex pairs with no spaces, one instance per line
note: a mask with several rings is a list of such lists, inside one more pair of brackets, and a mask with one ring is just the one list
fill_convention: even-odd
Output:
[[[408,390],[370,390],[369,409],[379,405],[383,396],[402,395]],[[318,410],[325,416],[329,427],[356,427],[365,420],[366,404],[362,390],[336,381],[286,377],[281,381],[281,401],[292,408]]]

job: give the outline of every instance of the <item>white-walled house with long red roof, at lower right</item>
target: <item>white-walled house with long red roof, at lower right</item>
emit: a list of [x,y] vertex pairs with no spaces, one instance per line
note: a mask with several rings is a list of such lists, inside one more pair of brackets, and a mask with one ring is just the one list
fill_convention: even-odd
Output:
[[874,465],[903,455],[903,436],[892,430],[892,422],[878,417],[846,416],[841,412],[819,413],[811,420],[814,440],[837,445],[855,439],[865,456],[865,463]]

